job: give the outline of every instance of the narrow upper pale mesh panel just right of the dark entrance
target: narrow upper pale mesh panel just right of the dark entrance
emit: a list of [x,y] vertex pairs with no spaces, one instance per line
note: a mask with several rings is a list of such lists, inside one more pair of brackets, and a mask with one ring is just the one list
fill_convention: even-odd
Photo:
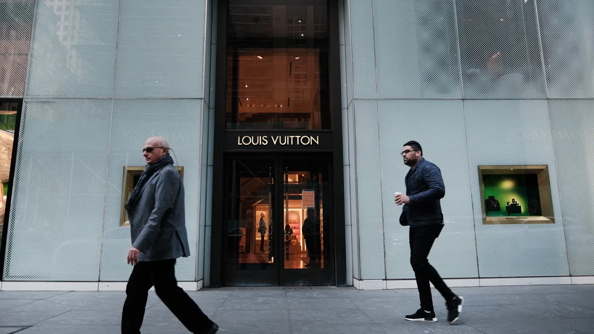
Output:
[[357,99],[375,99],[375,56],[371,0],[351,0],[353,89]]

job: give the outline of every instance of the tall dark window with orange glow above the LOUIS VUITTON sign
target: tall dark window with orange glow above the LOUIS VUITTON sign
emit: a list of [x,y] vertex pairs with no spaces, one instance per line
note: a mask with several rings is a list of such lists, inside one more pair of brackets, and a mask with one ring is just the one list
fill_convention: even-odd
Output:
[[229,1],[227,128],[330,128],[326,1]]

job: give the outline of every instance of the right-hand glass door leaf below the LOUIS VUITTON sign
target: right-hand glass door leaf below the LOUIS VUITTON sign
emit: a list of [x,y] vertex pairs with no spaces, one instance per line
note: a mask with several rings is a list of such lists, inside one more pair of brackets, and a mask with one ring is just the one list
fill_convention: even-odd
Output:
[[329,160],[281,159],[283,265],[280,285],[334,285]]

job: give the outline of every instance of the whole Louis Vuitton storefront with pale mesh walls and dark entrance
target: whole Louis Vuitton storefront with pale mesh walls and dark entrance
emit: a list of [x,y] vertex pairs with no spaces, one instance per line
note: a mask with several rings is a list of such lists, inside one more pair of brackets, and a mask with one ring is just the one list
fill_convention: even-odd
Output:
[[0,1],[0,289],[125,288],[122,203],[151,136],[184,176],[184,289],[414,287],[393,201],[409,140],[444,178],[429,260],[450,285],[594,283],[592,17],[591,0]]

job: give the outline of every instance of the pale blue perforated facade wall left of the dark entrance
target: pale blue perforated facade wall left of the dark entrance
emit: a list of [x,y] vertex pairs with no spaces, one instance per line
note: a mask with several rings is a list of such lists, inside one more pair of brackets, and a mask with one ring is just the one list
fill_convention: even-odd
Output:
[[206,2],[46,1],[35,15],[4,279],[125,281],[124,166],[163,136],[184,166],[194,250],[176,276],[195,281]]

